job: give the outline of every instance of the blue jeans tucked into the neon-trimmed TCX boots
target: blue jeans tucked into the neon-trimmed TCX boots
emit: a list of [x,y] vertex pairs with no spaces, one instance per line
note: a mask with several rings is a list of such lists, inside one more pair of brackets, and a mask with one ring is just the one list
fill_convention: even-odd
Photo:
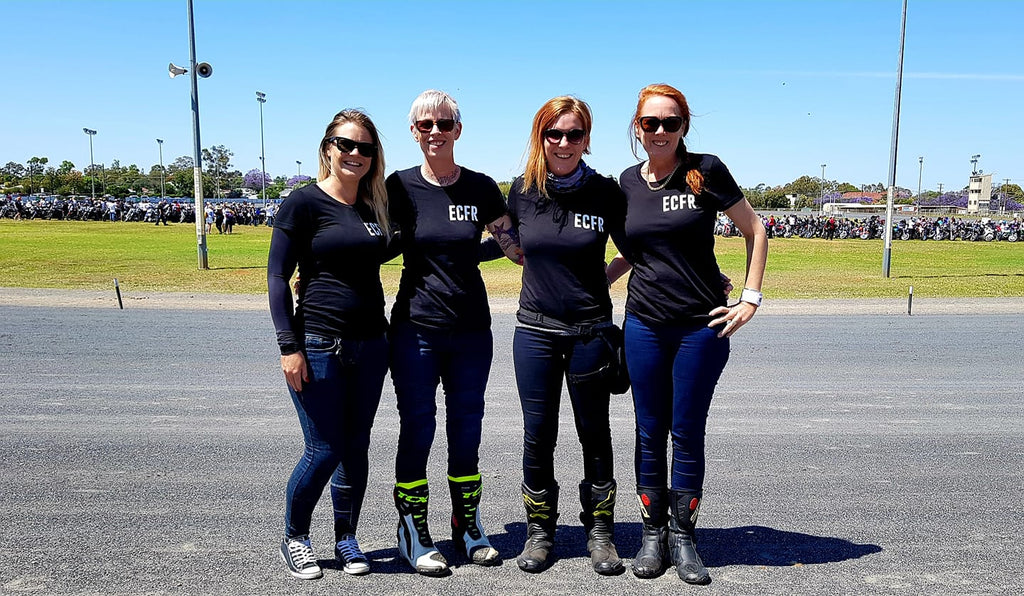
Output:
[[437,428],[438,383],[444,390],[449,475],[476,474],[483,392],[494,351],[490,330],[439,331],[403,322],[391,328],[389,339],[401,419],[395,479],[415,482],[427,477]]

